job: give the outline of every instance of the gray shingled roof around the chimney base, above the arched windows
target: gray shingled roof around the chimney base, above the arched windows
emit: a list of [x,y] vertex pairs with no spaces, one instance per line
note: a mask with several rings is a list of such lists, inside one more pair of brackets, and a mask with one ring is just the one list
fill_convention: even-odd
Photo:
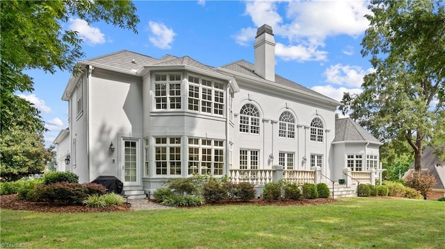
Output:
[[[224,65],[224,66],[222,66],[220,68],[228,69],[230,71],[234,71],[234,72],[239,73],[239,74],[244,74],[246,76],[251,76],[251,77],[254,77],[254,78],[258,78],[258,79],[263,79],[261,76],[259,76],[258,74],[254,73],[255,66],[252,63],[247,62],[245,60],[238,60],[236,62],[232,62],[232,63],[229,63],[227,65]],[[300,85],[298,83],[293,82],[292,80],[288,80],[288,79],[283,78],[282,76],[279,76],[277,74],[275,74],[275,83],[277,83],[279,85],[284,85],[286,87],[292,87],[293,89],[298,89],[298,90],[300,90],[302,92],[308,92],[308,93],[314,94],[316,96],[321,96],[323,98],[329,98],[329,97],[327,97],[327,96],[325,96],[323,94],[315,92],[312,89],[304,87],[304,86],[302,86],[302,85]],[[330,98],[330,99],[332,99],[332,98]],[[332,101],[337,102],[334,99],[332,99]]]

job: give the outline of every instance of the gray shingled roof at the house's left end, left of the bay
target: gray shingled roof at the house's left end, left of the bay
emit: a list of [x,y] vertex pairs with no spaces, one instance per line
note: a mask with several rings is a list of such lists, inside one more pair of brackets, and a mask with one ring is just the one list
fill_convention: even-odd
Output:
[[129,71],[138,71],[144,66],[153,65],[154,63],[160,62],[161,60],[149,57],[147,55],[142,55],[140,53],[122,50],[115,53],[108,53],[107,55],[102,55],[96,58],[91,58],[86,61],[95,62],[97,64],[106,65],[108,67],[116,67]]

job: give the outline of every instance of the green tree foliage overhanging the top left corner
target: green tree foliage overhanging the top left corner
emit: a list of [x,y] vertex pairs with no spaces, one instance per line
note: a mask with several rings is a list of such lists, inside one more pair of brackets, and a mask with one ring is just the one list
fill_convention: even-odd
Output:
[[40,112],[16,92],[32,92],[33,81],[25,69],[72,70],[82,58],[82,40],[76,31],[64,31],[63,23],[79,17],[88,23],[104,21],[137,33],[139,19],[131,1],[0,1],[0,126],[42,132]]

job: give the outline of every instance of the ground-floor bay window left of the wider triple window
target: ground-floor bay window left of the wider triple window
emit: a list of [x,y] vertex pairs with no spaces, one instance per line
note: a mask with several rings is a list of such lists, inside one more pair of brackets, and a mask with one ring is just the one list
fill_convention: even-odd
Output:
[[181,137],[154,138],[156,175],[181,175]]

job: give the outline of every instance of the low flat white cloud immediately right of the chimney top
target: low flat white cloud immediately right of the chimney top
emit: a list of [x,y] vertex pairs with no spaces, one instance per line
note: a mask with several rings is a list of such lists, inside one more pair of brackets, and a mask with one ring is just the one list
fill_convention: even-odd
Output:
[[275,55],[283,60],[296,60],[298,62],[304,61],[325,61],[327,58],[327,51],[317,50],[315,46],[285,46],[277,43],[275,45]]

